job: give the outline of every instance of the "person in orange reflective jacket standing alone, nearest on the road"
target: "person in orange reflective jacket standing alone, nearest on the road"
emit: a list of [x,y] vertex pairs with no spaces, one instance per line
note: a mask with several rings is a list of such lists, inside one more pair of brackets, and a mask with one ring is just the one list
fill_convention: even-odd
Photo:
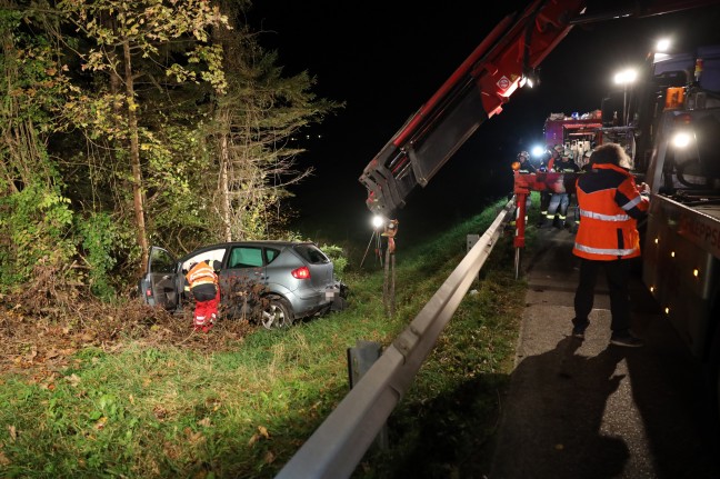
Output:
[[598,270],[602,268],[610,289],[610,343],[639,347],[642,341],[630,331],[629,260],[640,256],[638,220],[647,214],[650,200],[648,186],[637,186],[629,169],[622,147],[606,143],[592,152],[592,169],[578,177],[581,221],[572,253],[580,258],[580,280],[572,336],[584,338]]

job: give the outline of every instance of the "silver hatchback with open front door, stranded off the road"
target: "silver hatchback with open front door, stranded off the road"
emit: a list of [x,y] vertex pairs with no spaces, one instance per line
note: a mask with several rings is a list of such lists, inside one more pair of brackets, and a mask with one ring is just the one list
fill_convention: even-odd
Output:
[[312,242],[240,241],[199,248],[179,260],[150,248],[139,292],[150,306],[182,311],[192,306],[184,275],[207,261],[220,280],[220,313],[249,317],[263,327],[283,328],[296,319],[344,309],[347,287],[332,261]]

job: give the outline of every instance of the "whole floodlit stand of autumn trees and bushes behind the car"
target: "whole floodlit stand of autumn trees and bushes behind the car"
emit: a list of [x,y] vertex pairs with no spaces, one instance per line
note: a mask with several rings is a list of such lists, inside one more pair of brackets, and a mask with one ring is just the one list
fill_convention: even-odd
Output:
[[282,74],[242,23],[248,8],[0,3],[0,285],[47,256],[56,280],[112,299],[149,242],[281,233],[286,187],[307,173],[287,139],[337,106],[307,72]]

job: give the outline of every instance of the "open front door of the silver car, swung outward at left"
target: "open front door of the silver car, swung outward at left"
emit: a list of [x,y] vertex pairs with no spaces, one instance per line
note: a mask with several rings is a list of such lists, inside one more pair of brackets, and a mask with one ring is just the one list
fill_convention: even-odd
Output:
[[177,261],[172,255],[159,247],[150,247],[148,267],[140,280],[140,295],[150,306],[176,309],[179,305]]

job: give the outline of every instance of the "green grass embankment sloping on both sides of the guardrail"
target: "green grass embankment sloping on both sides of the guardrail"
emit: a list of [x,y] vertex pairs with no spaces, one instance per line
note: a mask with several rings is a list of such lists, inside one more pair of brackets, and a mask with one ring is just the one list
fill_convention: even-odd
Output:
[[[348,310],[284,331],[253,329],[230,347],[220,325],[202,340],[223,348],[126,337],[121,347],[78,348],[51,375],[4,371],[0,476],[273,477],[347,393],[347,348],[394,339],[466,253],[466,234],[482,233],[502,203],[398,253],[391,319],[382,271],[354,272],[343,278]],[[480,276],[391,415],[391,449],[370,452],[357,477],[477,477],[487,468],[524,295],[512,278],[511,237]]]

